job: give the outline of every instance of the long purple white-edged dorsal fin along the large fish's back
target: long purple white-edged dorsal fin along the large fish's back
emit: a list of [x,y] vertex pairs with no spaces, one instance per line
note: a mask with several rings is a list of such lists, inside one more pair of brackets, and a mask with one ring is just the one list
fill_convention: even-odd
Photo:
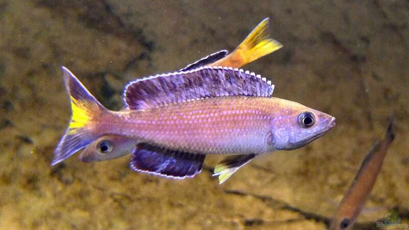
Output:
[[130,109],[148,109],[221,96],[270,97],[274,85],[260,75],[228,67],[199,67],[130,82],[124,98]]

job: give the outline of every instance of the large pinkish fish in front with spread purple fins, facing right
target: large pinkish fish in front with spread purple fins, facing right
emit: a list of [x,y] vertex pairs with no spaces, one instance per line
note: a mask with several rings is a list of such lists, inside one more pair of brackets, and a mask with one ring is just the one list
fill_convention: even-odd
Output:
[[201,172],[206,155],[227,154],[214,175],[224,182],[256,156],[305,146],[335,126],[335,118],[272,97],[266,78],[232,67],[201,66],[128,83],[126,110],[105,108],[62,66],[72,117],[54,152],[62,162],[103,135],[138,140],[130,167],[184,179]]

